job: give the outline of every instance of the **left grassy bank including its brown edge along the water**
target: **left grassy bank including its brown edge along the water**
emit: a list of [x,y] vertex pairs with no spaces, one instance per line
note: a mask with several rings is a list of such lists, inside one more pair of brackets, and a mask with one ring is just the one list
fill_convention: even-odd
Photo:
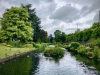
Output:
[[17,58],[24,54],[34,51],[35,47],[23,47],[23,48],[14,48],[3,43],[0,44],[0,63],[4,63],[8,60]]

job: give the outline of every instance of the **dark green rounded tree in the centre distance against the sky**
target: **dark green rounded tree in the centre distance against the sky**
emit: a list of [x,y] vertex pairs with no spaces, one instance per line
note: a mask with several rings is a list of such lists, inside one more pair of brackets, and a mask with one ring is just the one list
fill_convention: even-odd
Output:
[[66,35],[64,32],[61,32],[60,30],[56,30],[54,32],[54,35],[55,35],[56,42],[65,42],[66,41]]

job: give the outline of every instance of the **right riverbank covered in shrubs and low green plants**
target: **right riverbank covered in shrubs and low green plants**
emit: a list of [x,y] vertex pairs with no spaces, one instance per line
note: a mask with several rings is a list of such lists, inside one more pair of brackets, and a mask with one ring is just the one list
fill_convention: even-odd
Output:
[[78,42],[71,42],[69,45],[65,45],[64,48],[89,59],[100,61],[100,47],[98,46],[90,47],[89,45],[82,45]]

